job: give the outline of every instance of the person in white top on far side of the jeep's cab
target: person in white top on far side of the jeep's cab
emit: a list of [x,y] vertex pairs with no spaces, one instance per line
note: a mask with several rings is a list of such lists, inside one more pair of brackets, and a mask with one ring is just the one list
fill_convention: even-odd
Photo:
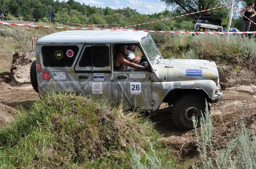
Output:
[[[127,60],[132,62],[132,63],[136,63],[137,65],[142,65],[145,66],[148,64],[148,62],[142,62],[140,63],[143,54],[139,54],[138,56],[135,56],[135,51],[137,51],[137,46],[136,45],[128,45],[127,48]],[[129,66],[126,66],[127,70],[133,70],[134,68],[131,68]]]

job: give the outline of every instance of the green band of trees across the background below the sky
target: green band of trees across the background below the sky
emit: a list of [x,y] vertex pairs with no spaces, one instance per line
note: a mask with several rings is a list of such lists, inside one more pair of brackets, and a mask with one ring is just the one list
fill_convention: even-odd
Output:
[[[77,24],[95,24],[98,25],[98,27],[103,24],[102,28],[107,28],[105,24],[108,24],[111,25],[112,28],[162,20],[231,3],[227,0],[195,0],[193,1],[194,3],[187,0],[160,1],[165,2],[167,8],[165,11],[155,14],[139,14],[136,9],[130,7],[122,9],[111,9],[108,6],[106,8],[98,8],[85,3],[81,4],[75,0],[68,0],[67,2],[64,0],[62,2],[60,0],[1,0],[0,12],[3,12],[6,17],[22,17],[24,21],[31,21],[32,18],[35,18],[37,22],[41,22],[42,18],[49,18],[49,11],[51,10],[52,18],[57,20]],[[181,5],[185,7],[179,6],[179,2],[182,2]],[[246,7],[248,3],[249,1],[247,0],[235,0],[231,27],[241,29],[242,17],[237,11]],[[229,8],[230,7],[219,8],[212,10],[212,12],[221,13],[223,24],[227,24]],[[148,30],[159,30],[161,28],[161,30],[170,31],[172,27],[175,31],[192,31],[194,25],[192,20],[196,20],[197,17],[198,14],[194,14],[152,23],[150,25],[140,25],[134,28]],[[6,19],[8,18],[5,18],[5,20]],[[255,25],[252,24],[250,30],[254,31],[255,29]]]

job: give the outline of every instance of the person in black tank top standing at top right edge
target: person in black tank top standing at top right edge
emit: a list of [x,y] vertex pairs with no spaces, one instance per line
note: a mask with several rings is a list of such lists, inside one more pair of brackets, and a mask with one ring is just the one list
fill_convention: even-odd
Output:
[[[244,12],[244,16],[246,16],[247,18],[249,18],[251,20],[251,18],[256,15],[256,12],[255,10],[253,9],[254,7],[254,3],[249,3],[249,6],[248,8],[243,8],[241,11],[239,11],[240,13],[241,12]],[[242,20],[242,29],[241,31],[244,32],[244,31],[249,31],[250,30],[250,20],[248,20],[246,17],[243,17],[243,20]],[[245,36],[248,36],[248,34],[246,34]]]

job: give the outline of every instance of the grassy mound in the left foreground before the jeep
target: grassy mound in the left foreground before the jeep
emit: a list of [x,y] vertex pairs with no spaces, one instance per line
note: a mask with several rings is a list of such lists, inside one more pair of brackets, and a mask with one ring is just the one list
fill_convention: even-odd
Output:
[[163,168],[177,166],[154,124],[138,112],[123,112],[104,100],[52,93],[0,128],[0,166],[133,168],[134,147],[153,155]]

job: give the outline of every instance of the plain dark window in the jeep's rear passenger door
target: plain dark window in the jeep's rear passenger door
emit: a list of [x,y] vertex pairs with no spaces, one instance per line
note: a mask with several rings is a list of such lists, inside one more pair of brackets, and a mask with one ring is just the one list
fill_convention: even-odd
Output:
[[109,47],[106,45],[87,46],[79,62],[80,67],[108,67],[110,64]]

